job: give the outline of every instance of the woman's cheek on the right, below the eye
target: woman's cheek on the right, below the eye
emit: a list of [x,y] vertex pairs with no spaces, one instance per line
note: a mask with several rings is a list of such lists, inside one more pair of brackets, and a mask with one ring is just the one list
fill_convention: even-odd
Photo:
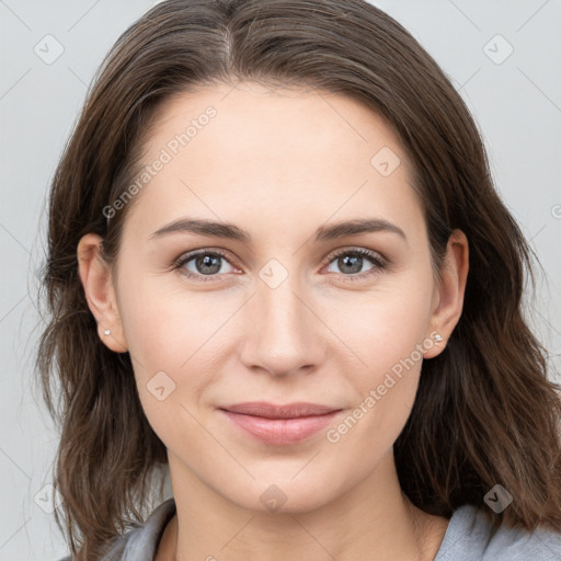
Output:
[[[337,332],[358,357],[348,380],[364,426],[376,425],[397,437],[413,405],[431,320],[433,280],[427,271],[373,293],[363,306],[335,306]],[[344,313],[342,313],[344,310]],[[332,319],[334,321],[334,318]],[[360,416],[360,412],[356,413]],[[363,423],[362,423],[363,424]]]

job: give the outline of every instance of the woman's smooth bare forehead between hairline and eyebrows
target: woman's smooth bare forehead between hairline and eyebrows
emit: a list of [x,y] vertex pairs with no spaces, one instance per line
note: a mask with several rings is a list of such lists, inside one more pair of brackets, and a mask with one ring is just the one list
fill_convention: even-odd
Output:
[[162,220],[170,210],[251,219],[275,209],[325,221],[366,207],[397,219],[398,207],[420,206],[385,119],[354,99],[311,89],[241,82],[168,99],[153,115],[142,163],[158,170],[140,198]]

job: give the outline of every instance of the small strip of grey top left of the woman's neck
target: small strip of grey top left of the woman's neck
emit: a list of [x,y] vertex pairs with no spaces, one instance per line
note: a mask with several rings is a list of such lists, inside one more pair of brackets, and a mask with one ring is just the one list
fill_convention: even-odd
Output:
[[[142,525],[111,541],[101,561],[153,561],[163,530],[174,514],[175,501],[168,499],[152,511]],[[65,557],[59,561],[71,561],[71,558]]]

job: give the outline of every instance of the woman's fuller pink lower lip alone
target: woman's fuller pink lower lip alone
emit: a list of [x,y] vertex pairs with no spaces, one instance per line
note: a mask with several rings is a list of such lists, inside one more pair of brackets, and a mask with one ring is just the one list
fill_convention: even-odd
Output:
[[295,444],[325,428],[340,411],[294,419],[266,419],[220,410],[237,426],[266,444]]

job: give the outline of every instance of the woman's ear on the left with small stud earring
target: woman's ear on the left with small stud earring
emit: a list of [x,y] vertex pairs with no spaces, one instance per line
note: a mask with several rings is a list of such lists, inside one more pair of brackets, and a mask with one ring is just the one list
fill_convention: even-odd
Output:
[[[126,353],[128,345],[123,332],[111,267],[101,256],[102,238],[87,233],[78,243],[78,270],[88,306],[98,321],[102,342],[116,353]],[[110,332],[110,333],[107,333]]]

